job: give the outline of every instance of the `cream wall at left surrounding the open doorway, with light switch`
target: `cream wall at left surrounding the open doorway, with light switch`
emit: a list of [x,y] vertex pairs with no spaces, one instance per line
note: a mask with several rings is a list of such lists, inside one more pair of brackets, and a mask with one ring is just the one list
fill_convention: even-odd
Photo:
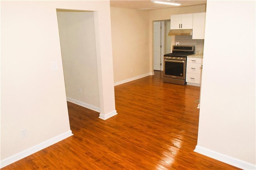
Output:
[[72,134],[56,8],[94,11],[100,118],[116,114],[109,1],[1,1],[1,167]]

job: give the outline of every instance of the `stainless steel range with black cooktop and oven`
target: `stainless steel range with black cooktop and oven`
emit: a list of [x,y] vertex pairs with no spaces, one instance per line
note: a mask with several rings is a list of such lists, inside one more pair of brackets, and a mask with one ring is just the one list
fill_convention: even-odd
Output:
[[186,60],[191,54],[194,45],[172,46],[172,53],[164,55],[164,82],[186,85]]

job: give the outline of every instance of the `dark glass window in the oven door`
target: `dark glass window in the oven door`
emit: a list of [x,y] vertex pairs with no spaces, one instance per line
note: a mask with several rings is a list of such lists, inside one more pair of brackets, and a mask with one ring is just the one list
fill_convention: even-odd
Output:
[[184,63],[176,63],[176,62],[171,62],[171,61],[165,61],[165,74],[182,77],[182,76],[184,76],[183,65],[184,65]]

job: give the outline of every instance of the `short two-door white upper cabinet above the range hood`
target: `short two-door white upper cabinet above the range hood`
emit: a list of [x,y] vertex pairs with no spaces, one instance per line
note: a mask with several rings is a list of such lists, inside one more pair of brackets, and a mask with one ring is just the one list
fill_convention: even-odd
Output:
[[193,28],[193,14],[171,15],[171,30],[185,30]]

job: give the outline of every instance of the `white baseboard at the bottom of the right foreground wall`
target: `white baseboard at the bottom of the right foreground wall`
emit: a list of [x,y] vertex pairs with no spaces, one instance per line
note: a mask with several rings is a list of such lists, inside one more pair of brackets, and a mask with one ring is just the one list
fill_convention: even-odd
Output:
[[198,145],[196,145],[196,148],[195,148],[194,152],[197,152],[199,154],[203,154],[203,155],[208,156],[210,158],[214,158],[216,160],[219,160],[219,161],[224,162],[226,164],[230,164],[232,166],[236,166],[236,167],[244,169],[244,170],[255,170],[256,169],[256,165],[254,165],[254,164],[244,162],[242,160],[239,160],[239,159],[233,158],[231,156],[221,154],[219,152],[215,152],[215,151],[210,150],[210,149],[203,148],[203,147],[198,146]]

